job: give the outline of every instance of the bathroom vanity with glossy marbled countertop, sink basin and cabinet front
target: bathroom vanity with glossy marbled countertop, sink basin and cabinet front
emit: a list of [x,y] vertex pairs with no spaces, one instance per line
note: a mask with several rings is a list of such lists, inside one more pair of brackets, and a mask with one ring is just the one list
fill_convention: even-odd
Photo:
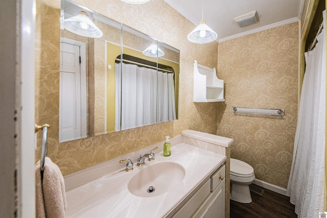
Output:
[[[67,217],[225,217],[226,156],[186,143],[193,140],[172,138],[170,157],[160,142],[65,176]],[[137,166],[156,146],[155,160]]]

